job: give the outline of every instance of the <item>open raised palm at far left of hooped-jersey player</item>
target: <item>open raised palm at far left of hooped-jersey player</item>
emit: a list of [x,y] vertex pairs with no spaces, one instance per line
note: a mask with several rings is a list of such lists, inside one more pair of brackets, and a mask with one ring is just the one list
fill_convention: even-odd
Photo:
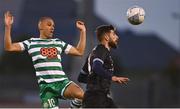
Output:
[[11,26],[13,24],[13,20],[14,20],[14,17],[12,16],[12,14],[9,11],[7,11],[4,14],[4,23],[5,23],[5,26]]

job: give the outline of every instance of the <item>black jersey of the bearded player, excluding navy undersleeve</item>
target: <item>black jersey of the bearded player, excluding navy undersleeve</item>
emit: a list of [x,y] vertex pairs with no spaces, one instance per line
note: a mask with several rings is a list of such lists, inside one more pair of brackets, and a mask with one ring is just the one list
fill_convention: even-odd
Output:
[[97,45],[89,54],[82,68],[84,73],[88,73],[87,90],[101,90],[109,92],[111,80],[99,76],[96,72],[93,72],[92,64],[94,59],[99,59],[102,61],[103,68],[108,70],[111,75],[114,72],[113,60],[111,58],[110,51],[102,44]]

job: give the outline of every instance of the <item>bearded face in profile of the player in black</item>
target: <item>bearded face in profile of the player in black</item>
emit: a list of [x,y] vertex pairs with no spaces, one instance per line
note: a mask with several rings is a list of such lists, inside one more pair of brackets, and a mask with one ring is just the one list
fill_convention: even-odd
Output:
[[119,37],[117,36],[114,30],[111,30],[109,33],[109,42],[108,42],[109,46],[111,48],[117,48],[118,42],[119,42]]

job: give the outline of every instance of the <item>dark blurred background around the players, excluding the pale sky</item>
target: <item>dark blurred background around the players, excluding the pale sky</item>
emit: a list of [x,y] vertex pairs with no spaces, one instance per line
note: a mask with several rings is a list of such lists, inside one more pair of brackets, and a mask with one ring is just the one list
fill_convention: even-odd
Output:
[[[9,2],[9,3],[8,3]],[[1,2],[3,13],[15,13],[13,41],[38,37],[37,23],[42,16],[50,16],[56,23],[55,37],[76,45],[79,33],[75,20],[82,19],[87,26],[87,47],[82,58],[63,55],[63,68],[69,78],[77,82],[77,75],[85,57],[97,44],[94,30],[98,25],[109,24],[94,13],[94,0],[23,0],[20,15],[11,3]],[[4,5],[3,5],[4,3]],[[9,5],[8,5],[9,4]],[[6,7],[5,7],[6,6]],[[16,17],[18,16],[18,17]],[[18,18],[18,19],[17,19]],[[1,22],[0,21],[0,22]],[[3,22],[1,22],[3,28]],[[172,28],[173,29],[173,28]],[[3,28],[4,31],[4,28]],[[112,97],[123,108],[127,107],[180,107],[180,55],[153,32],[134,32],[117,29],[120,36],[118,49],[112,51],[115,74],[130,78],[128,85],[112,84]],[[3,35],[3,34],[2,34]],[[147,37],[143,37],[147,36]],[[3,48],[3,36],[1,36]],[[0,107],[41,107],[39,88],[31,58],[26,52],[0,55]],[[60,107],[69,107],[69,101],[60,100]]]

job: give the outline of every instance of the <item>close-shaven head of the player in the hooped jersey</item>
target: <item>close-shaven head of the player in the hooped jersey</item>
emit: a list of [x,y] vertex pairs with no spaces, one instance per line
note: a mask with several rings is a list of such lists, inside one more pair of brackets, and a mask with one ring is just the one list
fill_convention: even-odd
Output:
[[54,32],[54,21],[51,19],[47,19],[41,22],[40,26],[40,34],[45,38],[52,38]]

